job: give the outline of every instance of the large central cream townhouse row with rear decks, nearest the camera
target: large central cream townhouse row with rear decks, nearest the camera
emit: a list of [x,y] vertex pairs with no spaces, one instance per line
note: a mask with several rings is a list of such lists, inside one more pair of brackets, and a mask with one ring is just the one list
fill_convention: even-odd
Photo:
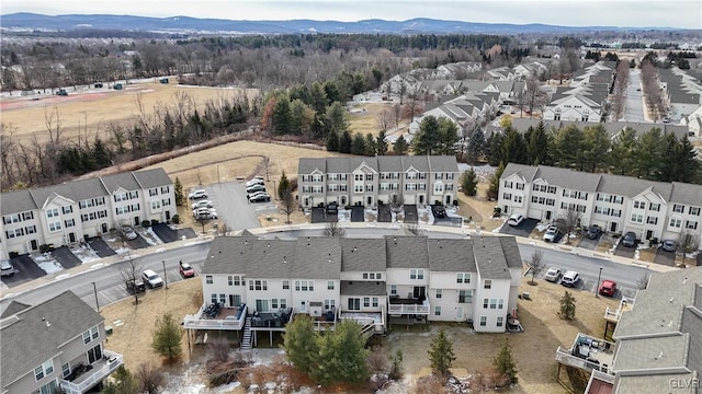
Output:
[[[380,333],[392,317],[473,322],[477,332],[500,333],[516,314],[522,269],[516,240],[497,236],[219,236],[207,256],[205,304],[185,317],[185,328],[241,329],[247,315],[272,322],[287,313],[325,322],[371,318]],[[246,309],[220,322],[202,318],[214,303]]]

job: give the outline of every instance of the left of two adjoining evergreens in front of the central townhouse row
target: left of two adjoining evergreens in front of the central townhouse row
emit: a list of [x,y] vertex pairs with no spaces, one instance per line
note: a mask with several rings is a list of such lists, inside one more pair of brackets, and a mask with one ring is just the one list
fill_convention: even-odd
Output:
[[317,334],[312,318],[301,314],[287,323],[283,334],[283,348],[285,358],[296,370],[309,374],[315,370],[319,347]]

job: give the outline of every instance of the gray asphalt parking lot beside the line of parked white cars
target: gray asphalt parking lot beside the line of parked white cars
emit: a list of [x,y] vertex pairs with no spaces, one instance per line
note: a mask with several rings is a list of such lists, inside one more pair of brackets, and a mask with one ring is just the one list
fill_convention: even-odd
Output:
[[[278,212],[274,202],[249,202],[242,182],[226,182],[204,187],[217,210],[219,220],[228,230],[257,229],[261,227],[259,215]],[[271,195],[273,190],[269,190]]]

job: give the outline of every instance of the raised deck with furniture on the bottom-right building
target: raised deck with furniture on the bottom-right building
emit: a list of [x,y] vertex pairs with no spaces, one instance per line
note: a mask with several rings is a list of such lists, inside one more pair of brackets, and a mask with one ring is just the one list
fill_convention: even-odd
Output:
[[578,334],[570,349],[558,347],[556,361],[559,362],[558,368],[564,364],[588,372],[595,370],[611,374],[610,366],[614,360],[614,346],[613,343]]

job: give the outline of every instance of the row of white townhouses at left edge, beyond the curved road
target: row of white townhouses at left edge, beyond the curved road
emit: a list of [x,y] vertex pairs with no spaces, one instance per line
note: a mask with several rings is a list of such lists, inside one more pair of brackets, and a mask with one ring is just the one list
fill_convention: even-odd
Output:
[[127,172],[0,195],[0,258],[41,245],[60,246],[144,220],[177,213],[173,183],[163,169]]

